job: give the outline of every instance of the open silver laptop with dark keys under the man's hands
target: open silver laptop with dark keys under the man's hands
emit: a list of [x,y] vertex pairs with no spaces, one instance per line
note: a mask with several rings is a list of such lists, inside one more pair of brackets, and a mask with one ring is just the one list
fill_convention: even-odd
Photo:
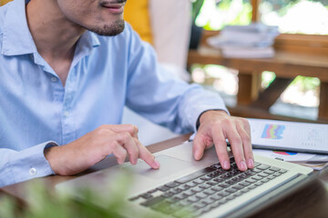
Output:
[[[80,188],[108,196],[108,185],[116,175],[133,173],[122,214],[148,214],[149,217],[240,217],[251,215],[268,203],[292,192],[305,183],[313,169],[255,155],[255,168],[237,169],[231,155],[231,169],[221,168],[214,146],[200,161],[192,155],[192,143],[184,143],[154,154],[159,170],[139,160],[136,165],[124,163],[59,183],[56,189],[79,196]],[[95,202],[105,206],[101,201]]]

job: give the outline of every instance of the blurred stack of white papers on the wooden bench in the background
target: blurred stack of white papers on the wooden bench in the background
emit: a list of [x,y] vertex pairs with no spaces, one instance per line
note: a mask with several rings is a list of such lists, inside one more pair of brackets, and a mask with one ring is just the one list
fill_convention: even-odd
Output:
[[220,35],[210,37],[208,44],[220,48],[224,57],[264,58],[274,56],[272,45],[279,35],[277,26],[253,23],[227,25]]

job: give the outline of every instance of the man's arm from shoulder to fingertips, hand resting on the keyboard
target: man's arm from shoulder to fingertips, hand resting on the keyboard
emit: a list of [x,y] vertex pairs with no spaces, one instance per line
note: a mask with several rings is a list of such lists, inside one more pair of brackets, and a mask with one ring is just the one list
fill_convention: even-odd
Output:
[[[228,139],[239,169],[252,168],[248,122],[230,116],[220,94],[204,90],[199,84],[184,83],[162,68],[153,49],[140,42],[138,36],[132,33],[129,42],[132,49],[128,62],[128,107],[176,133],[198,132],[194,140],[197,160],[204,149],[214,143],[220,163],[229,169],[225,142]],[[221,111],[209,111],[212,109]],[[197,130],[199,117],[200,128]]]

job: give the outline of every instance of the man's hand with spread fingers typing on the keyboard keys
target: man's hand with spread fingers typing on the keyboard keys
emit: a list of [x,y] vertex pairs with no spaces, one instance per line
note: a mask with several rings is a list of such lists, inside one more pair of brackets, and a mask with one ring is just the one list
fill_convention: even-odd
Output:
[[208,111],[200,116],[200,128],[193,140],[193,154],[200,160],[204,150],[215,144],[223,169],[230,168],[226,139],[231,144],[234,159],[241,171],[254,167],[251,151],[251,128],[246,119],[233,117],[224,111]]

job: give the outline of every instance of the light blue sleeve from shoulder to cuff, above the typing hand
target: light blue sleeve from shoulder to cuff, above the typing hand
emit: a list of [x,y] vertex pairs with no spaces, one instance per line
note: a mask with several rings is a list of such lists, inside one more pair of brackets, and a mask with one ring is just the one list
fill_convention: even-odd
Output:
[[128,55],[127,106],[175,133],[196,132],[208,110],[228,110],[220,94],[187,84],[158,64],[153,48],[131,32]]

